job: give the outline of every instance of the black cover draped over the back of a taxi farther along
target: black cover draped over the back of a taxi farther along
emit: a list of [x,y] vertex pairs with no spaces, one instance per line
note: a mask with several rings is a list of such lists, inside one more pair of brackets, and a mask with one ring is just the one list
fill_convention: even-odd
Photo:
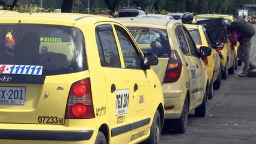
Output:
[[226,42],[228,41],[228,26],[230,26],[228,20],[224,18],[213,18],[206,20],[198,20],[197,25],[202,25],[206,28],[212,43]]

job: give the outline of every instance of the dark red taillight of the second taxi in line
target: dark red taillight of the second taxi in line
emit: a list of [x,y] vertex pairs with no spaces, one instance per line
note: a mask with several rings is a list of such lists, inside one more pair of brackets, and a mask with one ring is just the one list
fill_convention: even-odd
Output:
[[176,50],[171,50],[171,55],[166,68],[163,83],[176,82],[180,78],[182,63]]

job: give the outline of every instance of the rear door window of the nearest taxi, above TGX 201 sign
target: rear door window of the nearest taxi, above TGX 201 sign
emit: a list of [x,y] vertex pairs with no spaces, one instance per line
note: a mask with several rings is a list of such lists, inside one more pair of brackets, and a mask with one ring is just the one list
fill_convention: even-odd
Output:
[[111,25],[97,26],[96,41],[102,67],[121,67],[117,43]]

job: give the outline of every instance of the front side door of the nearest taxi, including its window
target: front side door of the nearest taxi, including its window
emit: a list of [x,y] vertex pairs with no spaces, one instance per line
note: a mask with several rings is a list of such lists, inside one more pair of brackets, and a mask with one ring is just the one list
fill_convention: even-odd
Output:
[[129,85],[132,89],[130,92],[132,94],[130,95],[131,100],[129,101],[129,112],[132,113],[132,121],[130,121],[130,141],[132,141],[143,136],[146,129],[142,127],[150,122],[149,103],[151,95],[149,95],[150,89],[148,88],[150,81],[147,80],[147,72],[142,70],[142,55],[132,40],[132,36],[120,25],[114,25],[114,28],[121,50],[123,73],[129,79]]

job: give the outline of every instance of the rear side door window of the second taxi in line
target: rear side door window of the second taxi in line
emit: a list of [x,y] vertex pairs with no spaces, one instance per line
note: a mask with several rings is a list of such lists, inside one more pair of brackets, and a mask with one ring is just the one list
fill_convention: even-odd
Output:
[[186,39],[183,35],[183,32],[180,28],[180,26],[177,26],[177,28],[175,29],[175,34],[178,40],[178,45],[181,49],[181,51],[184,53],[184,55],[189,55],[189,49],[187,47],[187,43],[186,43]]

